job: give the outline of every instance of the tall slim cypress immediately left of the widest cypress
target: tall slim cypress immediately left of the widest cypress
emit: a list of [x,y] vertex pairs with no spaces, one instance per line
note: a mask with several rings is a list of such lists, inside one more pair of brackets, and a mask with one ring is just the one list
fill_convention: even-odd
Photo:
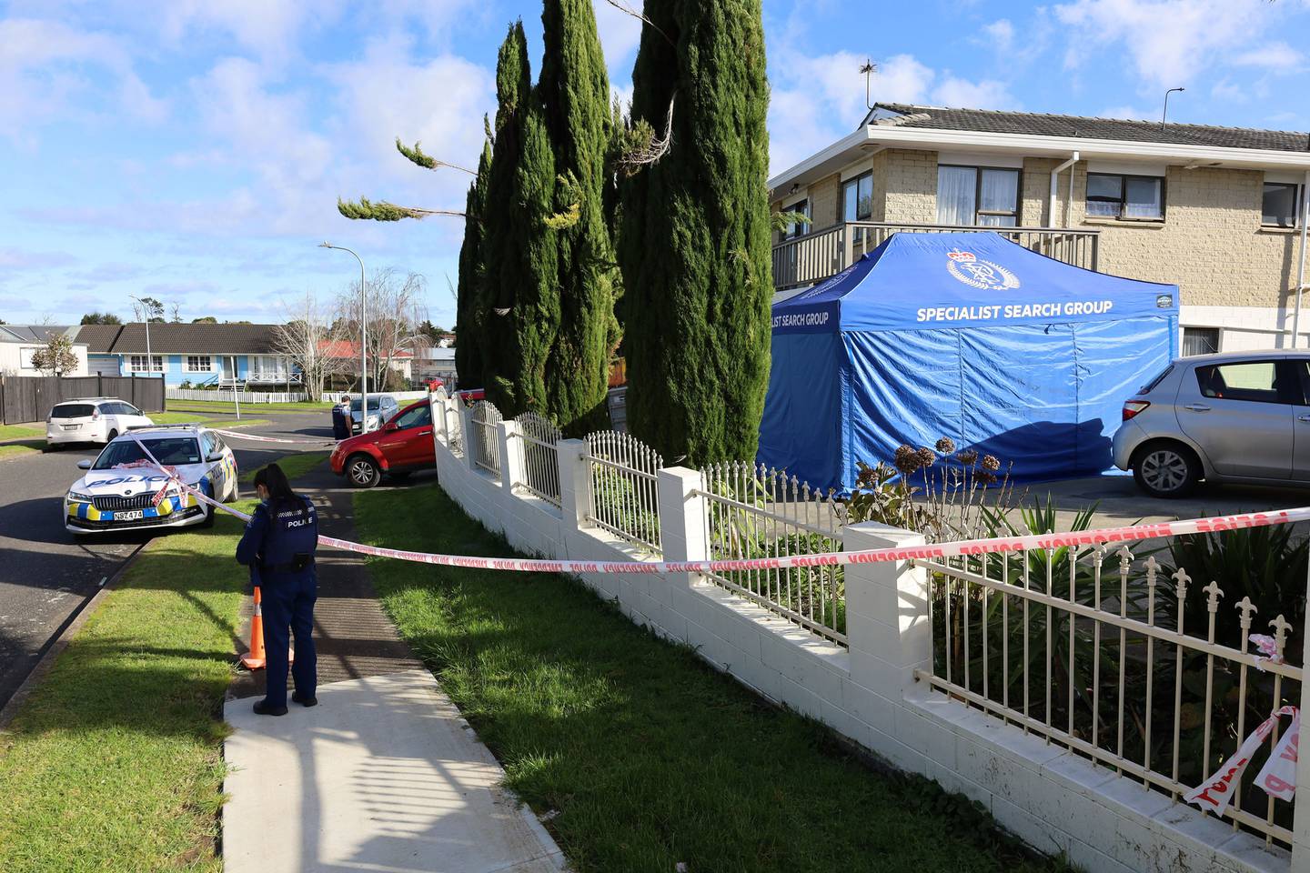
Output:
[[545,0],[537,92],[555,156],[559,330],[546,364],[548,414],[566,432],[604,421],[609,357],[618,344],[617,270],[603,204],[613,139],[609,76],[591,0]]

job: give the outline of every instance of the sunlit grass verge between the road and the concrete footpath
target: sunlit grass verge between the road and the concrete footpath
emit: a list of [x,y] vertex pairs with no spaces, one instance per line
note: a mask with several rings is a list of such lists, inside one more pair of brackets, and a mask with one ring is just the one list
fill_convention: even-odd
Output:
[[221,870],[240,534],[155,539],[0,733],[0,870]]

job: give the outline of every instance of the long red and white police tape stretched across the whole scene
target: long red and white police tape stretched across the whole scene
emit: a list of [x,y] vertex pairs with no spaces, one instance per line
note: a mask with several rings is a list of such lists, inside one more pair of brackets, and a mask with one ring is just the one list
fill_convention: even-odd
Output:
[[[210,499],[198,490],[170,475],[149,453],[145,444],[135,437],[141,450],[157,469],[177,482],[196,500],[207,503],[242,520],[250,518],[244,512]],[[1297,521],[1310,521],[1310,507],[1298,509],[1276,509],[1271,512],[1247,512],[1235,516],[1216,516],[1213,518],[1187,518],[1180,521],[1158,521],[1127,527],[1102,527],[1099,530],[1078,530],[1057,534],[1032,534],[1027,537],[996,537],[992,539],[962,539],[948,543],[925,546],[903,546],[893,548],[869,548],[865,551],[823,552],[816,555],[779,555],[778,558],[753,558],[744,560],[693,560],[693,561],[584,561],[546,560],[537,558],[474,558],[469,555],[438,555],[432,552],[381,548],[335,537],[320,537],[318,542],[334,548],[394,558],[440,567],[468,567],[472,569],[502,569],[524,573],[723,573],[732,571],[787,569],[791,567],[834,567],[838,564],[875,564],[880,561],[913,560],[930,558],[958,558],[962,555],[992,555],[1002,552],[1027,551],[1030,548],[1062,548],[1068,546],[1096,546],[1108,543],[1128,543],[1142,539],[1159,539],[1180,534],[1205,534],[1221,530],[1241,530],[1244,527],[1267,527]]]

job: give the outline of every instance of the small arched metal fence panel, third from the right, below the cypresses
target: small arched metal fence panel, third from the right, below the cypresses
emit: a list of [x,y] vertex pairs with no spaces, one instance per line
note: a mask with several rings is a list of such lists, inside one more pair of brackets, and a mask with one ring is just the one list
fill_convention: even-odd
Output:
[[659,454],[637,437],[614,431],[592,433],[587,445],[591,449],[587,520],[662,554],[655,472],[664,465]]

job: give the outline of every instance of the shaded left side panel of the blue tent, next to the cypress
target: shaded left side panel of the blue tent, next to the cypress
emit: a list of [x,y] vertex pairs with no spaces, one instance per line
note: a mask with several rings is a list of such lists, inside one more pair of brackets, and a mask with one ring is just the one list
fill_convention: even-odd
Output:
[[756,462],[817,488],[841,482],[840,342],[837,334],[773,335]]

